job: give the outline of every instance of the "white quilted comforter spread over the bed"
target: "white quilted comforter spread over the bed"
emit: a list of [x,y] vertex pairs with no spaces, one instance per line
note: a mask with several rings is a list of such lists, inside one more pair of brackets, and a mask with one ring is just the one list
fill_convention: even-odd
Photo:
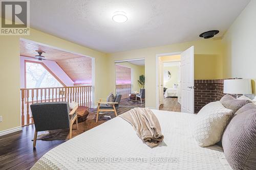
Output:
[[231,169],[221,147],[196,144],[191,124],[197,115],[153,112],[164,135],[156,148],[142,143],[132,126],[116,117],[58,145],[32,169]]

